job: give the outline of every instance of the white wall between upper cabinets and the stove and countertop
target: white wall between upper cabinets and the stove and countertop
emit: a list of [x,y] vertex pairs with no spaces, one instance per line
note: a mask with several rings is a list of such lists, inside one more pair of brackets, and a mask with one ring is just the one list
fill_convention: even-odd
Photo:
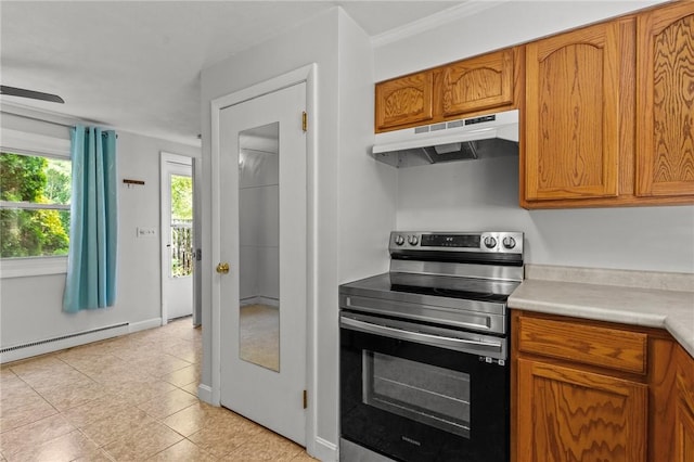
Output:
[[518,159],[403,168],[398,228],[525,232],[526,262],[694,272],[694,207],[526,210]]

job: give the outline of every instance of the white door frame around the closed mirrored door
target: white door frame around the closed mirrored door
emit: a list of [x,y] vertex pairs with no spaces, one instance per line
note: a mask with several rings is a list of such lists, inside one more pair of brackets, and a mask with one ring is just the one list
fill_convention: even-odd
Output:
[[316,63],[300,67],[298,69],[288,72],[281,76],[271,78],[260,84],[244,88],[233,93],[219,97],[211,101],[211,245],[210,245],[210,258],[206,259],[211,265],[211,319],[206,324],[206,329],[210,330],[211,337],[211,350],[210,350],[210,363],[211,363],[211,402],[216,406],[220,406],[221,399],[221,283],[219,274],[215,272],[217,262],[221,261],[221,235],[220,235],[220,194],[221,194],[221,178],[220,178],[220,112],[231,105],[242,103],[244,101],[252,100],[264,94],[268,94],[278,90],[282,90],[287,87],[292,87],[297,84],[306,82],[306,112],[309,115],[309,124],[306,132],[306,161],[307,161],[307,306],[306,306],[306,384],[308,393],[308,407],[306,419],[306,447],[310,452],[313,452],[317,437],[317,409],[313,403],[316,402],[316,389],[318,374],[317,368],[317,352],[316,352],[316,299],[317,299],[317,196],[316,196],[316,161],[317,161],[317,72],[318,66]]

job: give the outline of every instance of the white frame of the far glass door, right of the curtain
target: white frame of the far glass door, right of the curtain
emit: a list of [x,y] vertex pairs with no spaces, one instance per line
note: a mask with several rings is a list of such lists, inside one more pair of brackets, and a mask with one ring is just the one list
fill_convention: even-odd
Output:
[[[172,154],[172,153],[162,151],[159,154],[159,188],[160,188],[159,248],[160,248],[160,264],[162,264],[162,278],[159,280],[159,291],[162,292],[162,325],[166,325],[169,322],[168,310],[166,308],[167,294],[165,290],[165,284],[166,284],[165,281],[168,278],[168,272],[169,272],[169,262],[168,262],[168,259],[166,258],[166,253],[167,253],[166,245],[167,245],[168,239],[165,235],[165,230],[167,230],[170,227],[170,223],[167,222],[166,220],[168,214],[170,214],[170,208],[171,208],[171,200],[170,200],[171,192],[169,191],[169,181],[168,181],[169,172],[167,168],[167,166],[169,165],[182,165],[184,167],[189,167],[191,169],[191,180],[193,181],[193,190],[195,189],[195,177],[193,175],[193,158],[189,156],[180,155],[180,154]],[[166,197],[169,197],[168,202],[165,201]],[[164,206],[166,204],[168,204],[168,208],[169,208],[168,213],[165,213],[164,210]],[[195,214],[196,214],[195,204],[193,204],[193,230],[195,229],[195,223],[197,220],[197,217]],[[195,284],[193,279],[191,279],[191,284],[193,285],[191,304],[193,304],[193,312],[194,312],[195,311]]]

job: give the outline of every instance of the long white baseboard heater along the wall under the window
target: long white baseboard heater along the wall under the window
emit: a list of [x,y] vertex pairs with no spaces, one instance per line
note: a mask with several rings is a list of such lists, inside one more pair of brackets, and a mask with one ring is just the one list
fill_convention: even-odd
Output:
[[33,356],[44,355],[47,352],[125,335],[130,332],[129,325],[127,322],[121,322],[119,324],[0,348],[0,363],[17,361]]

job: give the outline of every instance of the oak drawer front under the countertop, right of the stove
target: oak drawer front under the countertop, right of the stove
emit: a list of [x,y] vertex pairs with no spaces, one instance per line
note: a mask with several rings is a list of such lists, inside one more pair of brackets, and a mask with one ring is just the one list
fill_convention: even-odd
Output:
[[528,317],[518,318],[517,332],[524,352],[646,373],[646,334]]

